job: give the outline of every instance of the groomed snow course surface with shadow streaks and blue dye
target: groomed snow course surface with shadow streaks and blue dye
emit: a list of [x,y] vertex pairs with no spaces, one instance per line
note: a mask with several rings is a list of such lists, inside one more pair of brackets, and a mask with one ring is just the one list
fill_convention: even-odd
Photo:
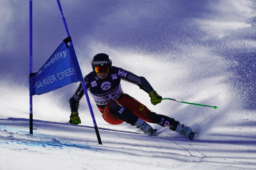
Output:
[[[22,111],[17,113],[24,115]],[[242,140],[231,135],[227,139],[217,139],[209,134],[206,138],[211,136],[212,139],[195,136],[195,140],[190,141],[166,129],[160,129],[158,136],[151,137],[130,129],[99,127],[103,145],[98,145],[93,126],[34,119],[34,133],[31,135],[29,119],[0,115],[1,169],[30,169],[26,163],[32,158],[35,164],[41,160],[56,161],[64,169],[72,168],[71,162],[78,165],[78,169],[99,169],[102,166],[106,169],[138,166],[141,169],[256,168],[253,134],[249,138],[245,135]],[[19,156],[18,161],[14,163],[8,158],[8,153]],[[58,166],[46,163],[37,168]]]

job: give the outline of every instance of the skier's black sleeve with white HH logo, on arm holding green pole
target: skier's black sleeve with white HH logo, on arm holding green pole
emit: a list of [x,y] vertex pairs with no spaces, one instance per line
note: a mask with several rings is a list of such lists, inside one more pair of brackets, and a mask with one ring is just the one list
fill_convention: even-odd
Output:
[[124,70],[122,68],[119,67],[115,67],[118,76],[122,79],[125,80],[127,82],[136,84],[137,86],[139,86],[139,88],[141,88],[142,90],[144,90],[145,92],[147,92],[148,94],[154,90],[153,87],[150,85],[150,83],[147,81],[147,79],[145,77],[139,77],[127,70]]

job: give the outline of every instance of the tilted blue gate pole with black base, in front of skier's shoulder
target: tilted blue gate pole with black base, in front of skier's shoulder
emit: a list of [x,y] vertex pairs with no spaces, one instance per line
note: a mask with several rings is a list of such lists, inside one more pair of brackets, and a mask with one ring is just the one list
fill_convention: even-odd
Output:
[[[67,23],[66,23],[63,11],[62,11],[61,3],[59,2],[59,0],[57,0],[57,3],[58,3],[58,6],[59,6],[59,11],[61,12],[61,17],[62,17],[63,24],[64,24],[64,27],[65,27],[66,32],[67,32],[67,36],[69,37],[70,33],[69,33],[69,29],[67,28]],[[73,45],[72,41],[70,41],[70,45]],[[94,129],[95,129],[95,132],[96,132],[96,135],[97,135],[98,142],[99,142],[99,144],[102,145],[101,137],[99,135],[99,129],[98,129],[98,126],[97,126],[96,121],[95,121],[95,117],[94,117],[94,114],[93,114],[93,109],[91,107],[90,99],[89,99],[88,93],[86,91],[86,86],[85,86],[84,81],[82,81],[82,86],[83,86],[83,91],[85,92],[85,97],[86,97],[86,100],[87,100],[87,104],[88,104],[89,109],[90,109],[91,118],[93,119]]]

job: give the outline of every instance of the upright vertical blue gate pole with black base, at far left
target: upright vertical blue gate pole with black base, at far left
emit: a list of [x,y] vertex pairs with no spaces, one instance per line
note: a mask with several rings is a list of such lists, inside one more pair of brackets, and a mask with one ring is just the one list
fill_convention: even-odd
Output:
[[[32,0],[29,0],[29,77],[32,71]],[[32,95],[29,96],[29,134],[33,135]]]

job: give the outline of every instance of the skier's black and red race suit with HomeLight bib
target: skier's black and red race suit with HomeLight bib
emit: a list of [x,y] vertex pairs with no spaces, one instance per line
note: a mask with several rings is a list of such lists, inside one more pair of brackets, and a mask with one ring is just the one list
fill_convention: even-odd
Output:
[[[138,117],[146,122],[167,126],[175,130],[178,121],[165,115],[150,111],[138,100],[125,94],[121,88],[121,79],[136,84],[148,94],[154,90],[144,77],[139,77],[127,70],[112,66],[107,78],[100,79],[92,71],[84,77],[86,90],[90,91],[103,119],[113,125],[124,121],[135,125]],[[69,100],[71,112],[78,112],[79,101],[84,95],[82,83]]]

